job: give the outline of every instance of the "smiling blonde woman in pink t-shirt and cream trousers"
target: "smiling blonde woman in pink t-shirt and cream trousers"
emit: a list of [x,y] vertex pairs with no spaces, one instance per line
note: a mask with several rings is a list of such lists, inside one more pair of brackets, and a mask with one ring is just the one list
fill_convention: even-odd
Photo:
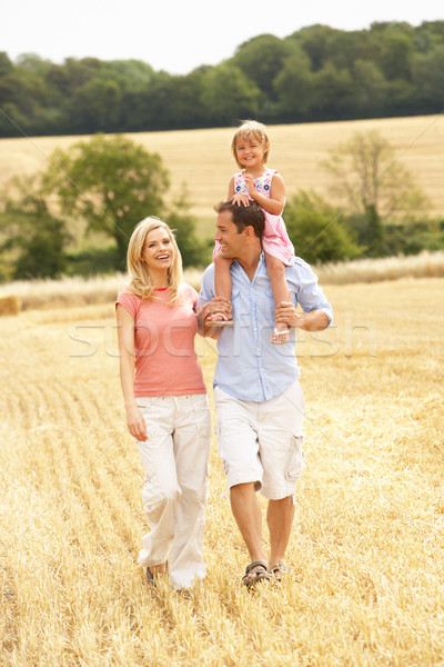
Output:
[[150,583],[169,569],[173,586],[186,589],[205,576],[211,430],[194,351],[198,293],[181,282],[179,248],[158,218],[135,227],[128,270],[130,282],[115,308],[127,422],[145,471],[142,499],[151,528],[139,564]]

